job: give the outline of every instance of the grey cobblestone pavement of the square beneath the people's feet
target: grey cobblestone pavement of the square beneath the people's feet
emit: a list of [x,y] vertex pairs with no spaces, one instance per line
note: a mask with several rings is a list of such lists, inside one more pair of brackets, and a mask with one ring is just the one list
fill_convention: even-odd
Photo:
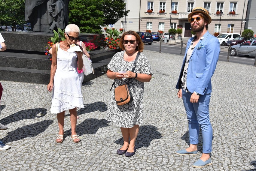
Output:
[[[154,75],[145,83],[145,122],[133,157],[116,154],[123,140],[120,128],[105,120],[113,82],[106,75],[82,86],[80,143],[71,139],[69,112],[64,142],[55,142],[58,125],[56,115],[50,113],[52,93],[46,85],[1,81],[0,123],[9,129],[0,130],[0,139],[11,149],[0,151],[0,170],[256,170],[256,67],[218,62],[210,102],[214,164],[194,169],[191,166],[200,155],[175,155],[189,143],[185,110],[175,89],[183,57],[143,53]],[[198,149],[201,153],[201,138]]]

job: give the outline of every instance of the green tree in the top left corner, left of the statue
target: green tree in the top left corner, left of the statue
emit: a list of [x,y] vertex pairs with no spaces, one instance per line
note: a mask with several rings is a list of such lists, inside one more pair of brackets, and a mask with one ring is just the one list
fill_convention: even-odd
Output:
[[25,0],[0,0],[0,25],[23,26],[25,23]]

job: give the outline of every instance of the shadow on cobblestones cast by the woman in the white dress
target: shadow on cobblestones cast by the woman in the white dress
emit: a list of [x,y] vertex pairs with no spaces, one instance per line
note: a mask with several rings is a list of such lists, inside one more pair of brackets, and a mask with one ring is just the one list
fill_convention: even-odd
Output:
[[[96,134],[99,128],[108,127],[109,121],[106,119],[85,119],[84,122],[76,126],[76,132],[79,136],[84,134]],[[65,136],[71,136],[71,129],[64,131]]]

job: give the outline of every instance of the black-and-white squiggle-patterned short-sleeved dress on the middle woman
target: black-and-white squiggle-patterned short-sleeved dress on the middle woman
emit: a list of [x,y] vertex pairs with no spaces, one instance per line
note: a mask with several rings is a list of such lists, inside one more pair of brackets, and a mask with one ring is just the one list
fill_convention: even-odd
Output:
[[[116,53],[108,64],[108,69],[113,72],[131,71],[133,62],[123,59],[125,51]],[[144,54],[140,54],[136,62],[136,73],[153,74],[148,63],[148,58]],[[114,79],[116,87],[128,82],[128,79]],[[129,104],[118,106],[114,99],[114,88],[111,92],[111,99],[108,105],[106,120],[114,122],[119,127],[132,128],[134,125],[143,125],[143,91],[144,82],[137,79],[130,80],[130,89],[133,95],[133,101]]]

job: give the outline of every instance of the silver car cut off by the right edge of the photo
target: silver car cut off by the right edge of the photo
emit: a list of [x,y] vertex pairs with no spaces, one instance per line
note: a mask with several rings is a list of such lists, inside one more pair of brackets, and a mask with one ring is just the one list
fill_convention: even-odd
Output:
[[256,53],[254,51],[255,49],[256,49],[256,39],[251,39],[251,40],[244,41],[239,45],[231,46],[230,55],[236,56],[237,54],[242,54],[245,56],[247,55],[255,56],[255,53]]

